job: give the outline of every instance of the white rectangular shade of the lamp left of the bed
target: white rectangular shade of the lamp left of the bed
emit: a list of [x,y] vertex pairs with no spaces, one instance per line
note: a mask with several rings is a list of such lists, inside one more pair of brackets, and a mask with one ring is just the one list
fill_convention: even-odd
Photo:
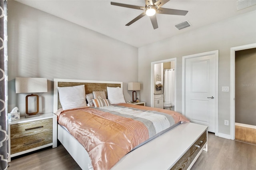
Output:
[[46,78],[16,77],[16,93],[43,93],[47,92]]

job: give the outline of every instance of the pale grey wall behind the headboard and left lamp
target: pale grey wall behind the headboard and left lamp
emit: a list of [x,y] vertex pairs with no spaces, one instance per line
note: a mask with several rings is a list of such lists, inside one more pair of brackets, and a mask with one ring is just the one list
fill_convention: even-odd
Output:
[[40,112],[52,112],[53,79],[138,81],[138,48],[16,1],[8,1],[8,111],[25,115],[25,94],[15,93],[15,77],[45,77],[48,93]]

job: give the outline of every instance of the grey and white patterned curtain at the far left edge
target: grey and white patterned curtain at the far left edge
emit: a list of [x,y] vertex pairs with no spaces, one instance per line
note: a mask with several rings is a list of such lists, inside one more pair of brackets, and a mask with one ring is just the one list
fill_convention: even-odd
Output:
[[[0,0],[0,170],[7,169],[7,0]],[[6,68],[6,69],[5,69]]]

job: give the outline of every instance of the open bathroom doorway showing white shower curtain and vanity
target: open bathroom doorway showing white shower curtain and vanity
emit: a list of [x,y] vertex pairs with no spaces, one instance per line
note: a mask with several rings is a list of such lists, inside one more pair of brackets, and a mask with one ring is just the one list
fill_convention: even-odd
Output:
[[151,63],[151,107],[176,111],[175,106],[176,58],[154,61]]

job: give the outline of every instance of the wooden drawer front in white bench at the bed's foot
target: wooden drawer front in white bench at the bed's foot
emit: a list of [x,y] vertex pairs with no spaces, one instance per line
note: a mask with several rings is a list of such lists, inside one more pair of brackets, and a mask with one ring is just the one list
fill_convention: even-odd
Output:
[[207,130],[194,142],[188,151],[172,166],[171,170],[186,170],[207,140]]

